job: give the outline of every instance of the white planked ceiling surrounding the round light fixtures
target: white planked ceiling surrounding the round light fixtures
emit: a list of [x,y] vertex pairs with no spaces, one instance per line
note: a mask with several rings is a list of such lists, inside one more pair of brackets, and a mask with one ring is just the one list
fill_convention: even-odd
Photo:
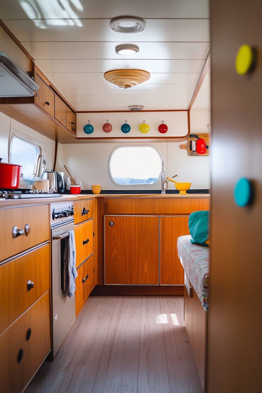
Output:
[[[128,110],[128,105],[144,105],[145,110],[188,107],[209,51],[207,0],[59,1],[30,0],[42,9],[42,19],[35,21],[42,28],[30,20],[18,0],[2,0],[0,18],[76,110]],[[50,19],[54,4],[70,5],[79,17],[69,21],[74,26],[50,25],[69,23],[62,16]],[[110,19],[122,15],[145,18],[145,30],[124,34],[110,29]],[[139,53],[118,55],[115,46],[122,43],[138,45]],[[124,90],[103,77],[114,68],[140,68],[151,77]],[[207,74],[192,109],[209,107]]]

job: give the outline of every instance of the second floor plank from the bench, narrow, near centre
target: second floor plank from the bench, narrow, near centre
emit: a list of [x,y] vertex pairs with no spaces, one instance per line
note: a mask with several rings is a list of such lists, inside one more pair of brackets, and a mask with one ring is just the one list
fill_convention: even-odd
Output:
[[138,393],[170,393],[160,301],[142,298]]

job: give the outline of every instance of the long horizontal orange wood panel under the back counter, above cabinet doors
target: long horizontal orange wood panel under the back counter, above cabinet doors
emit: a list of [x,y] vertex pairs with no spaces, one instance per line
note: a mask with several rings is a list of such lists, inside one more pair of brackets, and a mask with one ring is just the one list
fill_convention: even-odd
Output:
[[104,198],[104,214],[191,214],[209,210],[210,198]]

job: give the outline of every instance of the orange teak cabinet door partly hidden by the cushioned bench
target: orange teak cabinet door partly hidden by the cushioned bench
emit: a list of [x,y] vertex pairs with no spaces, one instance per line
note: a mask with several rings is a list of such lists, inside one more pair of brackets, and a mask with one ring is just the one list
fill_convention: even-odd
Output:
[[189,216],[160,217],[160,285],[184,284],[178,258],[178,237],[189,235]]

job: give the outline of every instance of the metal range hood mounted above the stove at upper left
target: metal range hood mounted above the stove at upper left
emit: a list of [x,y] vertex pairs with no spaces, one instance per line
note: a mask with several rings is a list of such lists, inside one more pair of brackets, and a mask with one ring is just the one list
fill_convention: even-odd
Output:
[[33,79],[0,52],[0,97],[32,97],[38,89]]

